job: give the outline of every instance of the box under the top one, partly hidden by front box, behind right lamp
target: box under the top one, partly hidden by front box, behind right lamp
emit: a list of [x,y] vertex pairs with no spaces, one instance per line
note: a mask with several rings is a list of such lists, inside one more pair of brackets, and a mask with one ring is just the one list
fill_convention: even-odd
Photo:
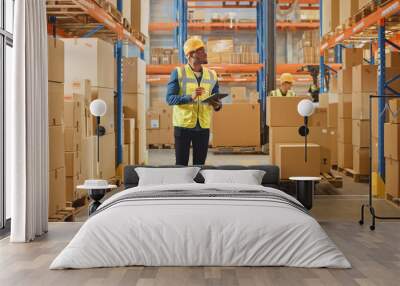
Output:
[[[309,143],[319,144],[321,141],[321,128],[309,127],[307,140]],[[270,127],[269,149],[272,164],[275,164],[276,148],[282,143],[304,143],[304,137],[300,136],[298,127]]]

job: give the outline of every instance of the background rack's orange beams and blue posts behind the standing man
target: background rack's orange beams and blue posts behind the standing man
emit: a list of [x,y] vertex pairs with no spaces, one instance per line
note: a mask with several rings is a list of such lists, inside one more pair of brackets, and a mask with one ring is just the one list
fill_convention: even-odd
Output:
[[[319,4],[319,0],[297,0],[300,4],[311,4],[312,6],[305,7],[305,9],[318,9],[315,5]],[[190,5],[191,2],[196,2],[195,5]],[[209,2],[210,5],[198,5],[199,2]],[[293,0],[278,0],[279,4],[291,5]],[[215,5],[215,3],[221,3]],[[257,52],[259,54],[260,64],[214,64],[209,65],[210,68],[217,71],[217,73],[257,73],[257,78],[236,78],[236,77],[220,77],[220,82],[254,82],[257,84],[257,91],[260,94],[260,121],[261,126],[266,126],[266,96],[267,90],[275,88],[275,74],[282,72],[291,72],[293,74],[302,75],[299,81],[311,81],[311,77],[304,76],[304,73],[299,72],[304,64],[275,64],[275,33],[276,28],[280,29],[317,29],[318,22],[276,22],[275,21],[275,1],[267,0],[240,0],[240,1],[221,1],[221,0],[175,0],[175,13],[176,22],[170,23],[151,23],[149,30],[155,31],[173,31],[176,38],[176,47],[179,49],[179,59],[181,63],[185,62],[183,53],[183,44],[187,39],[189,31],[218,31],[218,30],[255,30],[257,37]],[[187,15],[189,8],[248,8],[256,9],[257,21],[253,23],[193,23],[188,22]],[[267,21],[268,19],[268,21]],[[269,44],[269,45],[268,45]],[[266,54],[269,51],[269,55]],[[267,65],[267,58],[268,65]],[[148,65],[147,66],[147,82],[150,84],[163,84],[167,81],[163,75],[168,75],[176,67],[176,65]],[[265,68],[267,67],[267,69]],[[332,68],[338,68],[334,65]],[[267,75],[269,75],[267,77]],[[267,78],[271,79],[268,80]],[[261,144],[267,143],[266,129],[261,130]]]

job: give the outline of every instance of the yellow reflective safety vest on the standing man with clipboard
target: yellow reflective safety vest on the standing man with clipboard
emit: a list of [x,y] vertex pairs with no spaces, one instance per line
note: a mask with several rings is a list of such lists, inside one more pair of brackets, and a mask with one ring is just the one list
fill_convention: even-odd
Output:
[[217,83],[217,73],[213,70],[203,68],[203,76],[200,85],[189,65],[178,67],[179,95],[191,96],[196,88],[203,87],[204,93],[196,101],[189,104],[174,105],[173,124],[177,127],[194,128],[199,120],[201,128],[210,128],[212,107],[201,103],[202,100],[211,96],[211,92]]

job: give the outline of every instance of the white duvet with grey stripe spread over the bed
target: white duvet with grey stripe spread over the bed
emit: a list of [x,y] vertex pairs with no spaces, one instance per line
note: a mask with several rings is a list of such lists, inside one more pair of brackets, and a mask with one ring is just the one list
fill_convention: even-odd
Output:
[[[180,184],[136,187],[163,190],[263,190],[262,186]],[[297,202],[297,201],[296,201]],[[145,266],[292,266],[350,268],[308,214],[287,204],[246,198],[124,201],[90,217],[50,269]]]

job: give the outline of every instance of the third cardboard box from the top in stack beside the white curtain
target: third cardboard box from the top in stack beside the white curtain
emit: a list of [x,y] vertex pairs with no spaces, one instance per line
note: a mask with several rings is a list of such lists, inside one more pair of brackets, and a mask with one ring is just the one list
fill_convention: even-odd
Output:
[[49,126],[49,170],[64,168],[64,128]]

